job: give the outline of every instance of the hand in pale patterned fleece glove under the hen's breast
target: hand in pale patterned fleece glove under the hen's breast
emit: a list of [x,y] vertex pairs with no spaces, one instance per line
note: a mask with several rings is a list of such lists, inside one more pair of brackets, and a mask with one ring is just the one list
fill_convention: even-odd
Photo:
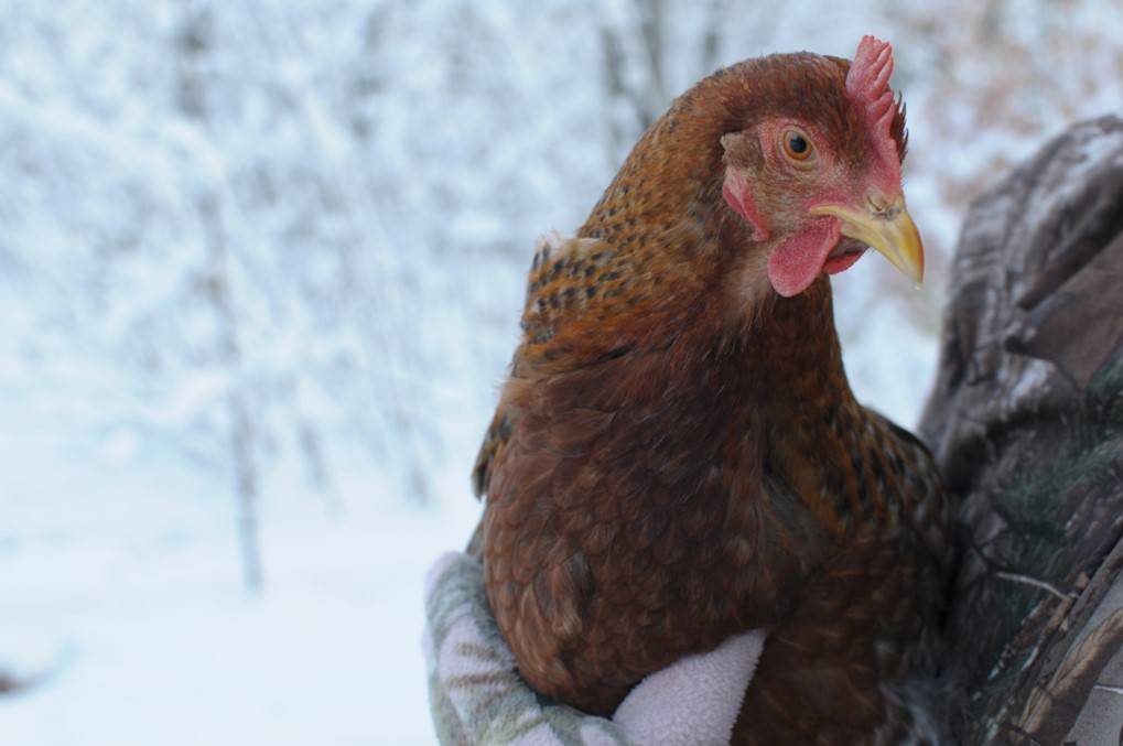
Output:
[[640,682],[611,720],[537,694],[519,676],[484,592],[483,567],[449,553],[426,582],[429,706],[441,744],[728,744],[764,633],[730,638]]

